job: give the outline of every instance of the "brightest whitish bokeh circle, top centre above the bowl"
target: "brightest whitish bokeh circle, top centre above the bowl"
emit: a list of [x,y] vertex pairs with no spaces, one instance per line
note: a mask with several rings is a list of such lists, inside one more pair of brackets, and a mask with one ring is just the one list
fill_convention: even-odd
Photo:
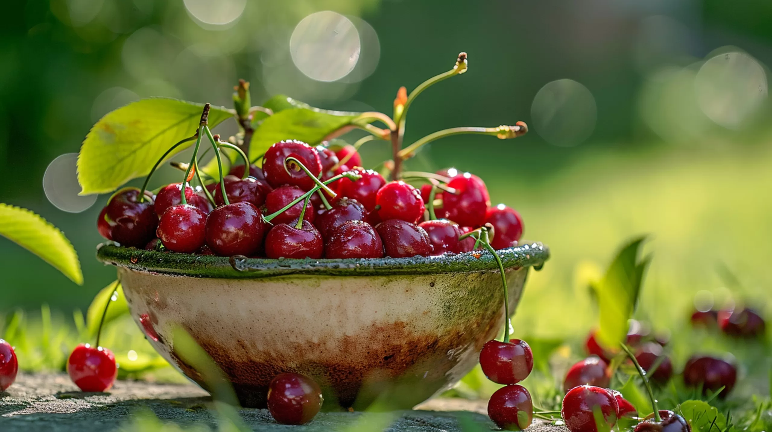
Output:
[[289,54],[300,72],[323,82],[348,75],[359,61],[361,41],[357,27],[337,12],[306,16],[289,38]]

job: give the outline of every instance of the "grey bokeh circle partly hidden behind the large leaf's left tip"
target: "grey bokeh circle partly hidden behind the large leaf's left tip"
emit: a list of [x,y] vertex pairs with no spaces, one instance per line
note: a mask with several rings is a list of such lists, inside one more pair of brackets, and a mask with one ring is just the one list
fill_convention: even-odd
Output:
[[96,195],[79,196],[78,153],[65,153],[53,159],[43,174],[43,192],[57,209],[80,213],[97,202]]

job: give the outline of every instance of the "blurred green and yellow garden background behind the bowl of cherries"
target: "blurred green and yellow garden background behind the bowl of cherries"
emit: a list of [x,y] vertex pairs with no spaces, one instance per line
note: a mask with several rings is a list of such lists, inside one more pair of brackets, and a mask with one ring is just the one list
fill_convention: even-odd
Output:
[[[312,15],[321,11],[340,15]],[[466,51],[469,71],[412,105],[405,141],[518,120],[531,132],[512,141],[444,139],[409,166],[477,173],[494,201],[522,213],[527,239],[552,249],[530,278],[516,335],[584,336],[597,319],[585,275],[642,233],[651,235],[654,259],[638,315],[655,328],[678,332],[699,290],[769,316],[772,5],[39,0],[8,3],[4,12],[0,202],[63,229],[86,283],[76,286],[0,238],[0,313],[41,303],[85,310],[114,279],[94,259],[107,196],[91,206],[93,199],[76,199],[66,188],[73,169],[56,164],[52,201],[84,210],[61,211],[42,187],[49,163],[78,152],[111,109],[148,96],[230,105],[232,85],[244,78],[255,103],[281,92],[321,108],[391,113],[400,85],[409,91]],[[293,43],[313,42],[320,17],[347,28],[347,44],[306,43],[292,55]],[[340,78],[347,69],[337,60],[356,65]],[[217,130],[227,136],[235,125]],[[388,157],[377,142],[362,152],[366,166]],[[167,167],[151,187],[177,177]]]

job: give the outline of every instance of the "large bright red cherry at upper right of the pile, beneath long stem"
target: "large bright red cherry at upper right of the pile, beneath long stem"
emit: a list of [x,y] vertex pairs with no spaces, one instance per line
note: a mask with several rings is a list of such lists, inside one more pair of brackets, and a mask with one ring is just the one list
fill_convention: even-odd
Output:
[[478,176],[464,172],[452,177],[448,186],[455,193],[442,194],[445,217],[461,226],[482,226],[490,206],[485,183]]

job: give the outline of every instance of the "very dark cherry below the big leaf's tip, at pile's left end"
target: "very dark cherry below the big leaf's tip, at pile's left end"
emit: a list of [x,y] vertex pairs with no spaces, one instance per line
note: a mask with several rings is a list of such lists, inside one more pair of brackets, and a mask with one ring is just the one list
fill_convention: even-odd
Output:
[[144,198],[140,202],[140,190],[136,188],[122,189],[110,198],[105,219],[112,227],[110,238],[113,241],[123,246],[144,247],[155,237],[158,226],[155,197],[145,191]]

